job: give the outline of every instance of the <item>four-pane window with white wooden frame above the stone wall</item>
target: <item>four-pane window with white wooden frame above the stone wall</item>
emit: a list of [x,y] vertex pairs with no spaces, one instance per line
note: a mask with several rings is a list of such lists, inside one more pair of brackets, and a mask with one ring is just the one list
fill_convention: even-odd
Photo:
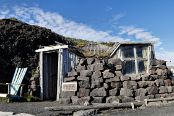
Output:
[[148,46],[127,45],[121,47],[121,59],[124,61],[123,74],[144,73],[148,69]]

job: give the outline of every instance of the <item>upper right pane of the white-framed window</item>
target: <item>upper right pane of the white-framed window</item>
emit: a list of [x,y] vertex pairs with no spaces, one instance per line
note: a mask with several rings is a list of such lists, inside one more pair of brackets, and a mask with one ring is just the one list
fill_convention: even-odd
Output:
[[136,46],[137,57],[147,59],[147,47],[146,46]]

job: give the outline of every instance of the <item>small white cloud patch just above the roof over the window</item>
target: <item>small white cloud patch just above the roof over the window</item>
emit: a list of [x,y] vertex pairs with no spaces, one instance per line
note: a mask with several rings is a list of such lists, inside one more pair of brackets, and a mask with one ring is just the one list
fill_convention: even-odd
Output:
[[134,26],[120,26],[119,28],[121,29],[119,35],[133,36],[137,40],[152,42],[156,46],[161,45],[160,38],[152,35],[148,31],[145,31],[143,28],[136,28]]

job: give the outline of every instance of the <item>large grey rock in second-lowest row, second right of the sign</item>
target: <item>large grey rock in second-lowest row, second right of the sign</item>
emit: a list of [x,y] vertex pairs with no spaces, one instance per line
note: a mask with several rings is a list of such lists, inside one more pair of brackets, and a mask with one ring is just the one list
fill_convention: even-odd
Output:
[[104,87],[93,89],[92,92],[90,93],[90,96],[104,97],[106,96],[106,90]]

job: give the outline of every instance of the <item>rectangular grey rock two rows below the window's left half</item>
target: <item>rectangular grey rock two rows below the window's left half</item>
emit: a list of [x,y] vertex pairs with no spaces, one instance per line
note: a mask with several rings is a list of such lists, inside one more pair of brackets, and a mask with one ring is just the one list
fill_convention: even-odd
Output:
[[123,88],[137,89],[137,82],[136,81],[124,81]]

